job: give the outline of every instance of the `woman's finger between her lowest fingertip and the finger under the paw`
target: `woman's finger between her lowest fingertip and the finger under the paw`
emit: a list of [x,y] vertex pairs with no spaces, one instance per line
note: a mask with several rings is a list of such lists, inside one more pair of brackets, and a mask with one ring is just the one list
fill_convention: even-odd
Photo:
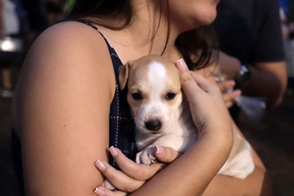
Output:
[[123,172],[113,168],[106,161],[98,160],[96,161],[95,166],[102,172],[105,178],[107,178],[112,183],[114,187],[124,192],[131,193],[140,188],[145,183],[145,181],[139,181],[130,178]]

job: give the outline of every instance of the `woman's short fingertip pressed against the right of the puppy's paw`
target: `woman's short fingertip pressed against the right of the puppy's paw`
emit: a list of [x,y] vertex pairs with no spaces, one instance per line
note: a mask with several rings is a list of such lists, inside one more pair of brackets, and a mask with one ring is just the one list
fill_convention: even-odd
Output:
[[177,158],[179,158],[182,154],[178,153],[174,149],[156,145],[154,147],[154,155],[158,160],[160,160],[163,163],[171,163]]

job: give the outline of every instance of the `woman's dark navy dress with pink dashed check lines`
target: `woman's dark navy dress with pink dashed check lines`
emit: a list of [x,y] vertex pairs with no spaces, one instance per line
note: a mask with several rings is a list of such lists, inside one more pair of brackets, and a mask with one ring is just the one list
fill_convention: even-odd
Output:
[[[82,22],[90,27],[94,28],[97,32],[97,28],[91,25],[85,20],[68,20],[68,21],[78,21]],[[100,32],[99,32],[100,33]],[[100,33],[101,34],[101,33]],[[119,148],[129,159],[135,160],[137,153],[137,148],[135,145],[135,133],[132,126],[134,121],[130,115],[129,106],[126,101],[127,89],[123,91],[119,88],[119,75],[118,68],[123,65],[118,55],[116,54],[114,48],[112,48],[107,42],[106,38],[101,34],[107,43],[109,54],[111,56],[113,69],[115,72],[115,81],[116,81],[116,92],[115,96],[111,102],[110,114],[109,114],[109,147],[115,146]],[[129,126],[130,125],[130,126]],[[24,185],[23,185],[23,173],[22,173],[22,160],[21,160],[21,141],[15,134],[14,129],[12,129],[12,154],[14,168],[17,173],[17,177],[20,181],[21,191],[24,194]],[[116,169],[119,167],[116,165],[115,161],[111,156],[109,156],[109,163],[114,166]]]

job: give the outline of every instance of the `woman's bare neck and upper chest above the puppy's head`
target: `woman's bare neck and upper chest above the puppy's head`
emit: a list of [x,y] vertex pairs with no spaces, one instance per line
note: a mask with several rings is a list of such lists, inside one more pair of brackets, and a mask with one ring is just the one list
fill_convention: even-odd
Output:
[[[159,4],[159,1],[156,2]],[[169,58],[177,53],[174,44],[181,32],[171,24],[168,44],[164,50],[168,34],[166,5],[161,5],[160,16],[160,5],[156,5],[156,2],[137,2],[137,5],[134,5],[131,24],[125,29],[114,31],[99,28],[110,45],[115,48],[123,63],[143,55],[161,55],[163,51],[164,56]]]

